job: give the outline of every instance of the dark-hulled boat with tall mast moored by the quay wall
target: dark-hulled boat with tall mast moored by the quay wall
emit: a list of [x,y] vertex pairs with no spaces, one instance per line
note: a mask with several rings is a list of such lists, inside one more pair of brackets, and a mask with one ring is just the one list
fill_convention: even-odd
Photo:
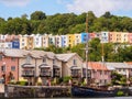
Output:
[[[86,16],[86,28],[88,28],[88,15]],[[86,33],[88,33],[88,30],[86,29]],[[87,69],[88,69],[88,41],[86,43],[86,84],[88,84],[88,75],[87,75]],[[103,63],[103,55],[102,55],[102,63]],[[72,85],[72,96],[73,97],[114,97],[116,96],[116,90],[103,90],[103,89],[98,89],[98,88],[92,88],[92,87],[87,87],[87,86],[75,86]]]

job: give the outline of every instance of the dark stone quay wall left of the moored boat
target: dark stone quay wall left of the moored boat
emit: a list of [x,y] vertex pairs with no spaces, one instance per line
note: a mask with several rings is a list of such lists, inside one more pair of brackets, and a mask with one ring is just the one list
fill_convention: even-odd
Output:
[[7,86],[8,98],[70,97],[70,86]]

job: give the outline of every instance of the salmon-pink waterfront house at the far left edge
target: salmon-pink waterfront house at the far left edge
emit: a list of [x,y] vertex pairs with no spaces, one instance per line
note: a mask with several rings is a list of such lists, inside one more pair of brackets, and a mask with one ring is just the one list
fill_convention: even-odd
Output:
[[11,80],[19,80],[19,58],[0,52],[0,81],[8,84]]

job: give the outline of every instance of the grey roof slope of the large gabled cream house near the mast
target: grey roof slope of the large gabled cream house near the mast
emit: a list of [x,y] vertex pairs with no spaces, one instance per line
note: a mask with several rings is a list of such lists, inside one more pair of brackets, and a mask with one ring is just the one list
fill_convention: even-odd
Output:
[[63,62],[68,62],[76,53],[56,54],[56,57]]

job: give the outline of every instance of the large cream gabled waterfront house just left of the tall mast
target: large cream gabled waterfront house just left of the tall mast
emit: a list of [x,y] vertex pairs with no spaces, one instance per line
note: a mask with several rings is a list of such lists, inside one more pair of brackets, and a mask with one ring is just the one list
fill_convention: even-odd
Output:
[[56,54],[62,61],[62,77],[72,76],[73,78],[82,77],[82,58],[76,53]]

